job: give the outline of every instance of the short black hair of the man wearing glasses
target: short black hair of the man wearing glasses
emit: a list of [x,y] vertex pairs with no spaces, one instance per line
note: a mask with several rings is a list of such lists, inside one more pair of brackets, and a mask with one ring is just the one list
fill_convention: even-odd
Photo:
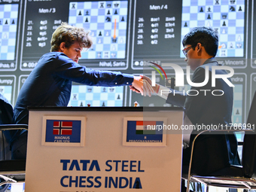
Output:
[[195,49],[198,43],[205,47],[206,53],[210,56],[216,56],[218,51],[218,34],[213,29],[204,26],[195,27],[182,40],[183,47],[191,44],[193,49]]

